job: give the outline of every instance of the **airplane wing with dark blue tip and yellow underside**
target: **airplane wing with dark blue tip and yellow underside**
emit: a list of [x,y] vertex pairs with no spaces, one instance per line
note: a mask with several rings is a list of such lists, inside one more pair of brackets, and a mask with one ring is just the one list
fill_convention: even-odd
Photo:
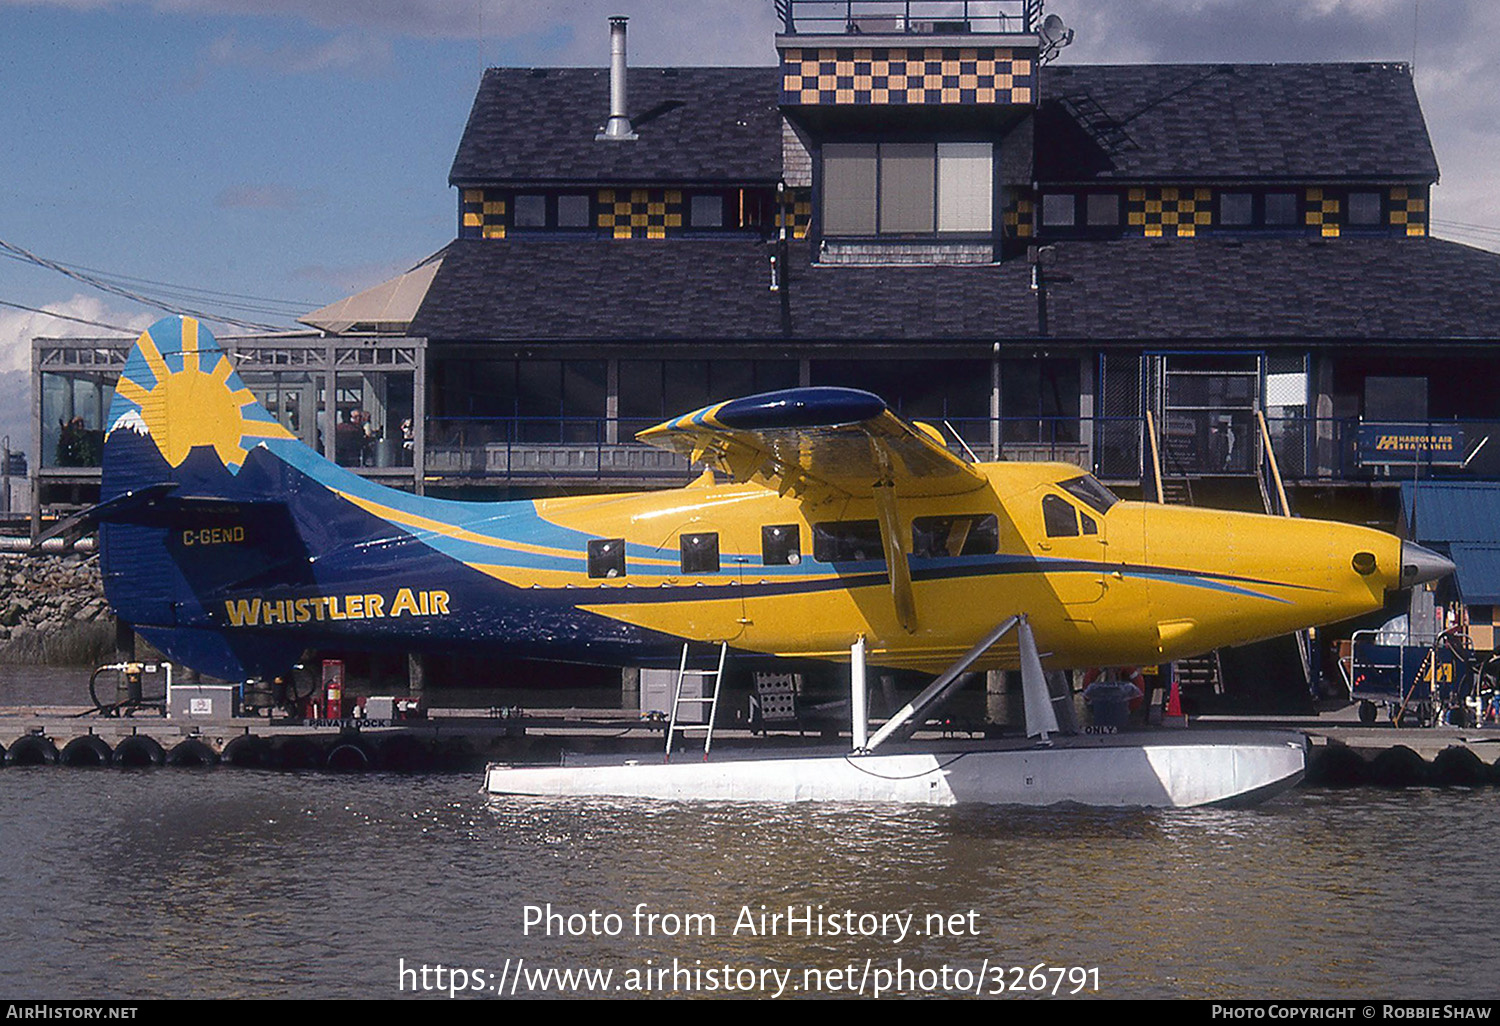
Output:
[[856,388],[786,388],[704,406],[636,435],[736,482],[762,480],[812,502],[868,498],[878,484],[902,496],[963,495],[986,478],[885,400]]

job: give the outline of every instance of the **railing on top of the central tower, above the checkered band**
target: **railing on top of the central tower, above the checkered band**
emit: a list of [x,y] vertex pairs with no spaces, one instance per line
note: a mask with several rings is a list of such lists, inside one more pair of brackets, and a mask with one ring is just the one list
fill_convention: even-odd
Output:
[[1042,0],[776,0],[788,36],[1029,34]]

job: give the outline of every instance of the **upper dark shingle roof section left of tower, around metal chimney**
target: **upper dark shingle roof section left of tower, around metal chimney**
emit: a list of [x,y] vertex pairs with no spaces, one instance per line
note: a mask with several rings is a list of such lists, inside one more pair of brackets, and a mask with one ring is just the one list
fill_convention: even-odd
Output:
[[603,68],[490,68],[470,111],[450,184],[494,182],[776,182],[782,116],[774,68],[632,68],[638,140],[600,142]]

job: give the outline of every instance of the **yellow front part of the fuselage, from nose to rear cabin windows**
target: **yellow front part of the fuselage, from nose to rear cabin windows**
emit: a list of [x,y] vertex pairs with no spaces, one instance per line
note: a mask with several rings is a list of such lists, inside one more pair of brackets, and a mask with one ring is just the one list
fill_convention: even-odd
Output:
[[[760,484],[704,483],[540,500],[543,520],[626,540],[636,554],[626,573],[480,568],[520,588],[578,590],[580,609],[686,639],[837,660],[862,634],[873,663],[924,670],[945,668],[1012,614],[1030,618],[1050,668],[1140,666],[1366,614],[1400,582],[1401,542],[1382,531],[1128,501],[1100,510],[1060,488],[1082,474],[1076,466],[982,464],[980,471],[987,486],[964,495],[897,496],[908,552],[914,519],[993,516],[986,530],[998,531],[993,554],[958,555],[956,543],[952,554],[914,555],[909,626],[879,549],[862,560],[812,558],[819,525],[873,522],[873,498],[810,506]],[[1054,518],[1066,502],[1082,530],[1056,531],[1044,501]],[[766,566],[768,525],[796,526],[802,552],[794,566]],[[684,534],[717,536],[717,572],[684,572]],[[628,591],[598,603],[586,596],[632,588],[640,602]],[[1014,644],[978,666],[1014,668]]]

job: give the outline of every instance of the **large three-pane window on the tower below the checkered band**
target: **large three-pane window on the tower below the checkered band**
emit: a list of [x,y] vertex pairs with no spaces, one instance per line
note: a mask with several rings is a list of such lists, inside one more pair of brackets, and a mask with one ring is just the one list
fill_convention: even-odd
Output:
[[828,142],[824,234],[988,234],[993,150],[988,142]]

